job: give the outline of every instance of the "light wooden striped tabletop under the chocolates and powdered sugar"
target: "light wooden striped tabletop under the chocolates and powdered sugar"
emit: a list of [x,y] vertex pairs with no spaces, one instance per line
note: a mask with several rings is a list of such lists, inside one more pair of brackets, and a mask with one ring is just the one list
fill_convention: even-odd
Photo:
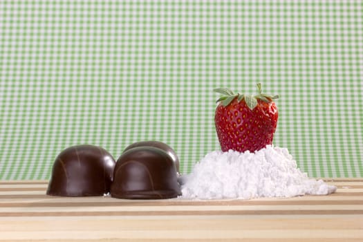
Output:
[[363,241],[363,178],[329,196],[132,201],[46,196],[46,181],[0,181],[0,241]]

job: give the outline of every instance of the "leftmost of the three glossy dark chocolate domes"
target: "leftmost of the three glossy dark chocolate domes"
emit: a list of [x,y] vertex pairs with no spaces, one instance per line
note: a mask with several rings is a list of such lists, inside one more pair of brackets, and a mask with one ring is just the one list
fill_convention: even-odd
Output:
[[110,192],[115,159],[101,147],[68,147],[55,159],[46,194],[103,196]]

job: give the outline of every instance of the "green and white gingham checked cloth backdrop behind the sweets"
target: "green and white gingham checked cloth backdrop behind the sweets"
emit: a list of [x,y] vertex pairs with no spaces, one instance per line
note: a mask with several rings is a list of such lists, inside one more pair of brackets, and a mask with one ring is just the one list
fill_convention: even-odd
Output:
[[0,179],[48,179],[93,144],[220,149],[212,89],[279,94],[274,145],[363,176],[363,1],[0,1]]

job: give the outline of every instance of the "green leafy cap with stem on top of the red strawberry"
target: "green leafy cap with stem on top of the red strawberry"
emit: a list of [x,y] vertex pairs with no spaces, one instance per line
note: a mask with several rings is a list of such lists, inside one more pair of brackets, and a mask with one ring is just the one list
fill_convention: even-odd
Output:
[[279,95],[272,96],[262,93],[261,83],[257,83],[256,86],[259,91],[259,94],[254,96],[243,95],[239,93],[235,94],[231,89],[225,89],[225,88],[214,89],[213,91],[223,95],[219,97],[218,100],[216,101],[216,102],[221,102],[223,106],[228,106],[237,97],[237,102],[245,100],[245,103],[247,104],[248,108],[250,108],[251,110],[253,110],[257,106],[258,100],[261,100],[263,102],[272,102],[272,100],[279,98]]

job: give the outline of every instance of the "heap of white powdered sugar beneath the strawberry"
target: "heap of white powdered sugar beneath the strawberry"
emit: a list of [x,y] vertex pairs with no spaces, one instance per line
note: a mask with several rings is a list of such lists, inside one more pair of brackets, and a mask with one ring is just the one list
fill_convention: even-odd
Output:
[[286,148],[273,147],[250,153],[212,151],[182,178],[181,198],[251,199],[326,195],[337,187],[308,178]]

